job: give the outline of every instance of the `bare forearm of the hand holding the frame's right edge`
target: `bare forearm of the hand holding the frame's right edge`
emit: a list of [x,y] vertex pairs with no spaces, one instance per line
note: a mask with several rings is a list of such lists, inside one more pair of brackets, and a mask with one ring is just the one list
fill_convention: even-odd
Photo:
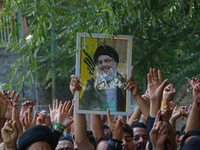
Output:
[[140,110],[142,111],[143,115],[147,119],[149,115],[149,105],[147,102],[142,98],[141,95],[136,95],[133,97],[133,99],[136,101],[137,105],[139,106]]

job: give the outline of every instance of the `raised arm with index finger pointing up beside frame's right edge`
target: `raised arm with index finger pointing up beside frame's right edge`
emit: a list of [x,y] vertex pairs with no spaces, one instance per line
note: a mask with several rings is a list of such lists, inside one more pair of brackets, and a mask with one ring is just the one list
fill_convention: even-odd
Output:
[[138,82],[134,79],[134,68],[131,68],[131,77],[126,81],[125,90],[131,91],[132,98],[136,101],[140,110],[144,114],[145,118],[149,115],[149,105],[142,98],[139,92]]

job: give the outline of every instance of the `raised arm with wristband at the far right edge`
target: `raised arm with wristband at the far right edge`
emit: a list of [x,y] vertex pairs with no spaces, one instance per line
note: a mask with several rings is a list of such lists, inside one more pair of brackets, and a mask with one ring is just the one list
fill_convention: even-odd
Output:
[[186,132],[200,127],[200,81],[197,78],[189,79],[193,88],[193,104],[186,123]]

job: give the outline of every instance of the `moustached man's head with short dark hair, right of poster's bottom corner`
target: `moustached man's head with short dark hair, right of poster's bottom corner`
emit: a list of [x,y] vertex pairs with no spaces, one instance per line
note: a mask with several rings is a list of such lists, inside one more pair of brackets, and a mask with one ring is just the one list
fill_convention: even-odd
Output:
[[135,150],[145,150],[147,144],[147,130],[143,122],[131,124],[133,130],[133,144]]

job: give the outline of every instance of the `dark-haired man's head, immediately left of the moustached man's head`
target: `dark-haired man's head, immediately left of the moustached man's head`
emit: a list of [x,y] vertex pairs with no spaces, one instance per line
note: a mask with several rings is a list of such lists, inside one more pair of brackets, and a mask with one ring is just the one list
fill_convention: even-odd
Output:
[[123,127],[123,140],[122,141],[123,141],[122,150],[134,150],[133,131],[128,124],[126,124]]

